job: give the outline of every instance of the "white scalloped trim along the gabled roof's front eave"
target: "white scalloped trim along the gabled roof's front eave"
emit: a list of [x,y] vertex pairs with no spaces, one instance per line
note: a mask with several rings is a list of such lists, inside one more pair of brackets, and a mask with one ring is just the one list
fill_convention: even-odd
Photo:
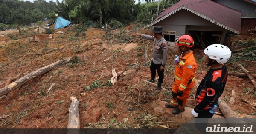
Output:
[[145,26],[144,28],[148,28],[148,27],[151,27],[151,26],[155,25],[156,23],[159,23],[160,21],[166,19],[167,17],[169,17],[169,16],[171,16],[172,14],[176,13],[176,12],[179,11],[180,9],[185,9],[185,10],[187,10],[187,11],[190,11],[190,12],[192,12],[193,14],[196,14],[196,15],[198,15],[198,16],[200,16],[200,17],[202,17],[202,18],[204,18],[204,19],[206,19],[206,20],[208,20],[208,21],[210,21],[210,22],[212,22],[212,23],[214,23],[214,24],[216,24],[216,25],[218,25],[218,26],[221,26],[221,27],[223,27],[223,28],[225,28],[225,29],[227,29],[227,30],[229,30],[229,31],[232,31],[232,32],[234,32],[234,33],[236,33],[236,34],[240,34],[240,33],[241,33],[241,31],[237,31],[237,30],[232,29],[232,28],[230,28],[230,27],[228,27],[228,26],[225,26],[225,25],[223,25],[223,24],[221,24],[221,23],[219,23],[219,22],[216,22],[215,20],[212,20],[212,19],[209,18],[209,17],[206,17],[206,16],[204,16],[204,15],[202,15],[202,14],[199,14],[199,13],[197,13],[196,11],[193,11],[193,10],[187,8],[186,6],[181,6],[180,8],[178,8],[178,9],[176,9],[176,10],[170,12],[169,14],[166,14],[165,16],[159,18],[159,19],[156,20],[155,22],[153,22],[153,23],[151,23],[151,24]]

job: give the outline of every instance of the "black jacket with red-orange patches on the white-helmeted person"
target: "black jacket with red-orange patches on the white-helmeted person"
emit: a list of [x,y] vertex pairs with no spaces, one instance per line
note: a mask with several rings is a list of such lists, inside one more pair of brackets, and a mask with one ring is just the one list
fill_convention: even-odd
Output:
[[227,67],[224,65],[221,68],[207,71],[196,91],[195,101],[197,105],[194,108],[195,112],[209,110],[213,105],[218,104],[218,98],[226,86],[227,72]]

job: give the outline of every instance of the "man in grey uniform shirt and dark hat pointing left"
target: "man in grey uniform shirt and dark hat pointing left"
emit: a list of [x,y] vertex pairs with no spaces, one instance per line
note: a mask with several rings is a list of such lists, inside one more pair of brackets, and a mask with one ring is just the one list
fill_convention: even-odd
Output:
[[153,60],[151,61],[150,71],[151,79],[149,82],[154,82],[156,77],[156,70],[159,76],[157,91],[160,91],[163,83],[163,73],[167,61],[168,43],[163,38],[163,28],[161,26],[154,26],[151,29],[153,36],[135,33],[137,36],[143,37],[144,39],[153,40]]

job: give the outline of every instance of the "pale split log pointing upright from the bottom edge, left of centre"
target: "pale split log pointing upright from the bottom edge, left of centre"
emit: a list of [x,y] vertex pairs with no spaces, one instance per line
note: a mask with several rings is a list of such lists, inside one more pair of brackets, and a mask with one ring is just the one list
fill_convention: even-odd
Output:
[[72,100],[72,102],[68,110],[69,116],[68,116],[67,134],[79,134],[79,131],[74,130],[74,129],[79,130],[80,128],[80,118],[79,118],[79,108],[78,108],[79,101],[74,96],[70,97],[70,100]]

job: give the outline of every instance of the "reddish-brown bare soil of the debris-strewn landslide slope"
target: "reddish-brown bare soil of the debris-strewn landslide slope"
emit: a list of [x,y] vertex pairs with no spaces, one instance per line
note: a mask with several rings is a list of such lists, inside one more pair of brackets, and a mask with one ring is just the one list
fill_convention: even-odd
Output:
[[[148,50],[148,57],[152,56],[151,41],[115,42],[112,35],[106,38],[108,34],[106,31],[95,28],[87,29],[85,37],[80,36],[71,40],[70,37],[76,32],[67,29],[69,28],[55,30],[55,32],[64,31],[64,34],[52,34],[54,39],[48,38],[47,34],[36,35],[40,40],[37,43],[24,43],[24,38],[10,40],[6,35],[0,37],[0,88],[5,87],[7,80],[18,74],[30,73],[67,57],[80,59],[77,63],[66,63],[36,77],[21,88],[10,92],[7,97],[3,97],[0,100],[0,117],[9,114],[11,117],[0,120],[0,128],[66,128],[71,96],[75,96],[80,102],[80,128],[161,128],[160,125],[177,128],[177,124],[170,125],[169,122],[179,118],[171,114],[172,109],[166,110],[164,102],[161,101],[161,99],[170,99],[171,96],[175,66],[170,55],[171,51],[163,82],[163,87],[168,90],[159,93],[155,86],[142,81],[151,76],[149,67],[144,66],[145,61],[149,60],[145,59],[145,48]],[[134,30],[132,26],[125,29],[131,32]],[[112,31],[115,32],[118,31]],[[151,34],[148,29],[139,29],[136,32]],[[102,42],[102,46],[91,45],[93,42]],[[230,43],[227,44],[229,45]],[[64,48],[48,54],[34,54],[23,58],[26,53],[40,49],[45,52],[61,46]],[[193,51],[198,63],[196,77],[200,80],[208,68],[201,63],[204,57],[203,49],[194,48]],[[256,74],[255,63],[246,64],[246,68],[252,74]],[[108,79],[112,77],[112,67],[116,72],[127,71],[127,74],[121,75],[115,84],[108,85]],[[239,70],[232,63],[227,64],[227,67],[231,71]],[[92,87],[93,82],[103,85],[88,91],[87,86]],[[52,83],[55,85],[47,94]],[[255,100],[256,93],[252,89],[253,84],[247,77],[230,76],[222,97],[228,101],[231,91],[235,90],[236,103],[228,105],[237,114],[253,113],[255,107],[240,100],[241,98]],[[193,99],[195,90],[196,88],[192,90],[189,99]],[[250,90],[252,91],[245,94]],[[124,100],[126,96],[128,97]],[[59,102],[61,100],[64,102]],[[20,120],[15,124],[27,102],[29,103]],[[194,101],[188,100],[187,107],[193,108]],[[132,110],[129,111],[129,108]],[[110,124],[96,124],[104,121]]]

